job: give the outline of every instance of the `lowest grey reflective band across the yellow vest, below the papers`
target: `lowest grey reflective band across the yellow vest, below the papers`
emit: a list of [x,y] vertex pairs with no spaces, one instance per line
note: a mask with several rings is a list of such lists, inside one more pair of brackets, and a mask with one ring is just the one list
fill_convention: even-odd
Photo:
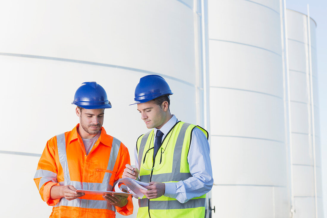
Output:
[[190,199],[183,204],[179,201],[152,201],[152,200],[150,200],[150,210],[190,209],[190,208],[204,207],[204,205],[205,205],[205,198]]

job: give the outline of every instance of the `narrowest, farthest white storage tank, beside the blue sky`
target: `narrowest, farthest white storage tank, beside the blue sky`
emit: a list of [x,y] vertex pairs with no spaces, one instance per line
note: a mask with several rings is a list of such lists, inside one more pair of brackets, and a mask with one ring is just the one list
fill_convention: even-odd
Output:
[[287,10],[295,217],[316,217],[316,210],[323,217],[316,23],[309,20],[308,24],[307,15]]

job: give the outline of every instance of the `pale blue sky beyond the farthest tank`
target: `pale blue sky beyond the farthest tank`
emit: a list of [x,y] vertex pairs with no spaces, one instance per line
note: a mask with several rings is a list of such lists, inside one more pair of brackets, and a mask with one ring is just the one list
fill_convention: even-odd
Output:
[[327,0],[286,0],[286,8],[307,14],[317,23],[318,90],[324,214],[327,217]]

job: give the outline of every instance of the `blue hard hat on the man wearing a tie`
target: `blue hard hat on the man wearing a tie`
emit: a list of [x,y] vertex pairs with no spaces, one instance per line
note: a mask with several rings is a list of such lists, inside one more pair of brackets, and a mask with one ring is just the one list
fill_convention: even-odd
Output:
[[[159,75],[147,75],[140,79],[135,88],[135,102],[144,103],[163,95],[172,95],[168,83]],[[132,105],[130,104],[130,105]]]

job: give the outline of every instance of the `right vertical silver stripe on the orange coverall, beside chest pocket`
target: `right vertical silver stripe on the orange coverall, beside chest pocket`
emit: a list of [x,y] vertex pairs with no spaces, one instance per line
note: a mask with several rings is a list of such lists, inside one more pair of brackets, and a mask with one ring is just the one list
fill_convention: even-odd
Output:
[[[117,159],[117,156],[119,153],[120,143],[121,142],[117,138],[113,137],[107,170],[113,171],[113,167],[115,166],[116,159]],[[103,188],[100,190],[112,191],[112,186],[109,185],[111,175],[112,175],[112,173],[107,173],[107,172],[104,174],[104,177],[102,180]],[[109,188],[111,188],[111,189],[109,189]]]

